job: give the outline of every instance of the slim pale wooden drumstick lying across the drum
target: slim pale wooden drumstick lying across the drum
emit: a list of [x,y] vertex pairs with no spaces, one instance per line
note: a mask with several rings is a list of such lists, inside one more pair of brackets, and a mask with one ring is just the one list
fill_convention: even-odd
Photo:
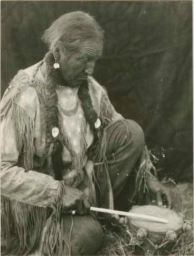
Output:
[[116,210],[110,210],[110,209],[104,209],[104,208],[97,208],[97,207],[90,207],[91,211],[94,212],[104,212],[104,213],[110,213],[110,214],[118,214],[118,215],[124,215],[124,216],[129,216],[129,217],[135,217],[135,218],[140,218],[140,219],[145,219],[145,220],[153,220],[156,222],[162,222],[162,223],[168,223],[169,221],[167,219],[162,219],[150,215],[145,215],[145,214],[137,214],[137,213],[132,213],[132,212],[121,212],[121,211],[116,211]]

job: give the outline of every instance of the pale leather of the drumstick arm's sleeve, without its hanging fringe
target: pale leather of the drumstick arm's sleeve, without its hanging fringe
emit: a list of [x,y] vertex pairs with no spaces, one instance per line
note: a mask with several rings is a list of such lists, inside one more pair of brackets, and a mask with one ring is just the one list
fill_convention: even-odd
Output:
[[[14,123],[20,122],[21,130],[27,130],[25,119],[29,118],[31,124],[37,113],[37,95],[35,90],[30,90],[30,95],[26,98],[27,90],[13,102],[15,109],[10,108],[8,114],[3,116],[1,122],[1,194],[10,198],[35,204],[38,206],[50,206],[57,190],[59,181],[53,177],[29,170],[25,172],[24,168],[18,167],[18,157],[20,148],[24,145],[19,143]],[[4,99],[2,99],[3,101]],[[18,118],[18,116],[20,118]],[[21,115],[24,115],[21,118]],[[15,119],[15,120],[14,120]],[[23,120],[24,122],[22,122]],[[28,124],[27,124],[28,125]],[[32,127],[32,134],[33,134]],[[30,136],[32,135],[30,134]],[[22,134],[25,136],[25,134]],[[26,135],[29,136],[29,135]],[[23,138],[25,141],[25,138]],[[32,138],[33,142],[33,138]],[[29,142],[30,143],[30,142]],[[19,145],[20,144],[20,145]],[[27,159],[28,160],[28,159]]]

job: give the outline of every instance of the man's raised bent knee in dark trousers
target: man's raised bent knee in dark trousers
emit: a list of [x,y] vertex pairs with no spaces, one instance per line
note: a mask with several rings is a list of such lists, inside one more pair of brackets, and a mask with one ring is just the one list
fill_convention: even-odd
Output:
[[118,121],[109,126],[107,132],[108,170],[116,200],[127,183],[139,156],[144,148],[143,130],[133,120]]

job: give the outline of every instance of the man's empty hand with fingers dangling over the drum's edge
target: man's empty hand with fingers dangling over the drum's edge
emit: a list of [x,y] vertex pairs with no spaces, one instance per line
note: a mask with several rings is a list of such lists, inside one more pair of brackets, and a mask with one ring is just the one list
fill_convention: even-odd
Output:
[[153,177],[147,178],[147,187],[153,198],[156,198],[158,206],[166,205],[171,208],[172,199],[168,188],[163,186],[158,180],[154,180]]

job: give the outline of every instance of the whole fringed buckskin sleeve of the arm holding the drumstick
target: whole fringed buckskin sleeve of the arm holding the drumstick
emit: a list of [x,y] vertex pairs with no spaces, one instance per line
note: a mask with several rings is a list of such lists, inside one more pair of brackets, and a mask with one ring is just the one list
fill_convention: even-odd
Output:
[[[29,104],[27,111],[18,102],[18,94],[27,88],[24,81],[22,86],[18,82],[2,99],[1,255],[26,255],[32,252],[41,240],[47,218],[50,218],[47,228],[49,245],[55,248],[57,244],[60,250],[57,249],[56,254],[61,255],[62,230],[59,219],[63,210],[65,185],[30,169],[33,166],[36,105],[34,101],[26,99],[26,104]],[[22,150],[22,166],[26,168],[18,167]]]

